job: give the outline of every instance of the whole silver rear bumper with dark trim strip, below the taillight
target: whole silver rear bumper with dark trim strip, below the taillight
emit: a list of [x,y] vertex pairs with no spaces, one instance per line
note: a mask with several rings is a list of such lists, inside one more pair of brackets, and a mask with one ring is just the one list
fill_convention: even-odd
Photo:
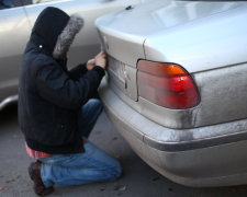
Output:
[[188,186],[247,183],[247,120],[169,129],[131,108],[105,84],[103,81],[100,95],[108,117],[133,150],[160,174]]

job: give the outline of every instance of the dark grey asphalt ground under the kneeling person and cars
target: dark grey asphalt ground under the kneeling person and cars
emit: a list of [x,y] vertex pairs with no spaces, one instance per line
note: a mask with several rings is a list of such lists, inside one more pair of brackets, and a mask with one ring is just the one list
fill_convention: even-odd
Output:
[[[33,160],[25,153],[16,114],[16,105],[0,112],[0,197],[35,197],[27,175]],[[191,188],[170,182],[132,151],[105,114],[90,140],[121,161],[123,176],[110,183],[56,187],[50,197],[247,197],[247,186]]]

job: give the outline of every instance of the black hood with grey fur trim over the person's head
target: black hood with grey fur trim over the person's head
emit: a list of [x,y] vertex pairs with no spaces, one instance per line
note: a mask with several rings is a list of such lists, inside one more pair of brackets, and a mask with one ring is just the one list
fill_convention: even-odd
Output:
[[36,43],[46,55],[55,59],[64,59],[82,26],[83,20],[79,15],[69,16],[57,8],[48,7],[38,15],[32,30],[31,40]]

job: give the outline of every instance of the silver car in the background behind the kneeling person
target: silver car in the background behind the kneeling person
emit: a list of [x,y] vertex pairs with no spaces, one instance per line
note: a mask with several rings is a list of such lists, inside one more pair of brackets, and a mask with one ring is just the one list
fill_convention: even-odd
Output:
[[[69,65],[85,62],[100,50],[94,20],[142,0],[0,0],[0,109],[16,101],[21,57],[32,26],[46,7],[57,7],[85,20],[69,53]],[[53,19],[50,19],[53,20]]]

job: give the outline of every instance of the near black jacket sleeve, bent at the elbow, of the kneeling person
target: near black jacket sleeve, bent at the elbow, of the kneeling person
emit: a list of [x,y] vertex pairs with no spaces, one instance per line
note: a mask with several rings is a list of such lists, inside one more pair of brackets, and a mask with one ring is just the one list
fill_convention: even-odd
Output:
[[94,67],[74,80],[53,61],[40,67],[35,85],[44,100],[63,108],[77,109],[94,95],[103,76],[104,70]]

